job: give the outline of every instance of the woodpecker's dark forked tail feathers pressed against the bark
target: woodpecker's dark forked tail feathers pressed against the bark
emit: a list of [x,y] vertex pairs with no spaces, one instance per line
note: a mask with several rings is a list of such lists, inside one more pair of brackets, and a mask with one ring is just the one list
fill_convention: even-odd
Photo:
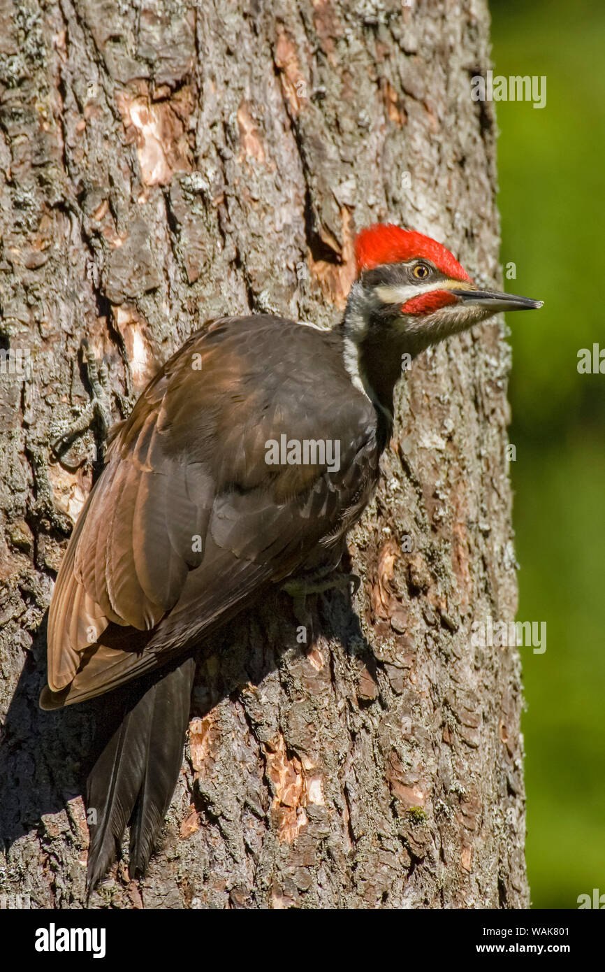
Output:
[[86,783],[89,891],[116,860],[130,821],[132,876],[144,875],[179,779],[195,661],[156,679],[124,714]]

